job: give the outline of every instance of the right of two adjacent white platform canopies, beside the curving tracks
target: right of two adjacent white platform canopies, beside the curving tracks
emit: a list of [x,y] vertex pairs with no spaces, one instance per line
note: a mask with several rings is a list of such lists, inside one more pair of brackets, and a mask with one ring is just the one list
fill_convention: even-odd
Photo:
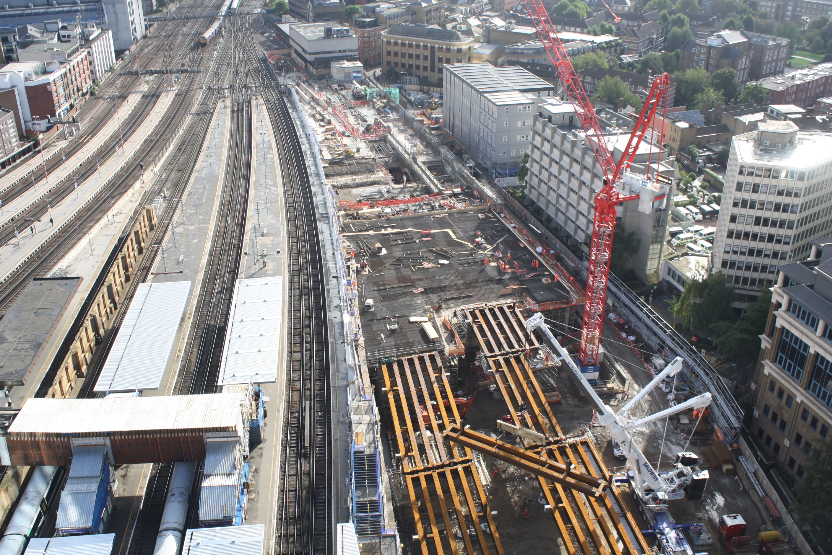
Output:
[[220,363],[220,386],[277,381],[283,277],[238,279]]

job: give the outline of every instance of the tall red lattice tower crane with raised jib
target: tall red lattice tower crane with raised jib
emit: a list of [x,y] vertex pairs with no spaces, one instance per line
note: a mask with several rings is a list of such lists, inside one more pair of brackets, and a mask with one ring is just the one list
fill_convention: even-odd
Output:
[[[541,0],[522,0],[529,17],[532,18],[537,35],[546,48],[552,67],[557,71],[563,90],[572,102],[578,121],[587,135],[587,144],[601,166],[604,184],[595,195],[595,217],[592,222],[592,246],[589,252],[589,273],[587,275],[587,301],[583,309],[583,331],[581,351],[578,361],[581,366],[597,366],[598,346],[601,341],[601,331],[604,323],[604,304],[607,302],[607,280],[610,273],[610,253],[612,251],[612,233],[616,224],[616,206],[627,200],[638,199],[638,195],[626,195],[617,189],[617,183],[622,177],[622,169],[626,171],[633,157],[636,155],[641,140],[660,105],[666,111],[667,90],[670,76],[663,73],[653,80],[650,92],[646,97],[641,114],[636,121],[630,139],[627,141],[621,160],[618,164],[612,158],[607,143],[604,140],[601,123],[598,121],[587,92],[584,91],[577,71],[569,60],[566,49],[557,32],[546,7]],[[663,102],[664,101],[664,102]],[[648,165],[648,177],[649,177]]]

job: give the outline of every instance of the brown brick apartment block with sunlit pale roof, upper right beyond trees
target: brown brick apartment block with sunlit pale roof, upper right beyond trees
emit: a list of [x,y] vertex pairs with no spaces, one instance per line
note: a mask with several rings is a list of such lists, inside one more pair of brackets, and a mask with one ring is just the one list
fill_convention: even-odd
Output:
[[691,39],[681,47],[679,69],[705,69],[709,73],[730,67],[740,83],[749,80],[751,39],[745,31],[726,30],[704,39]]

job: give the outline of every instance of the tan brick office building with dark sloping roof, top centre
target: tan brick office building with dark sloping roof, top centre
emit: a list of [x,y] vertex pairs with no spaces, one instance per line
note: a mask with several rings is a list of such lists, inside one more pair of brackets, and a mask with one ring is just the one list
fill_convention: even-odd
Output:
[[381,33],[384,71],[415,77],[423,86],[443,86],[445,64],[473,61],[473,37],[438,27],[396,23]]

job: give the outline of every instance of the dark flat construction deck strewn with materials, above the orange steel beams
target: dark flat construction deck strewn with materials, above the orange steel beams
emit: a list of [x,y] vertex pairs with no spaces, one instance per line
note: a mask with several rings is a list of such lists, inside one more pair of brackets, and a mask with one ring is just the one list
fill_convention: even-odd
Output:
[[[483,214],[483,217],[480,217]],[[368,361],[382,357],[413,356],[429,351],[444,351],[441,341],[431,341],[421,322],[410,317],[425,317],[442,307],[469,306],[474,302],[572,301],[574,290],[555,281],[543,264],[532,268],[536,256],[526,248],[497,215],[485,210],[396,216],[384,219],[389,228],[359,229],[365,223],[350,223],[341,234],[362,258],[366,245],[369,273],[359,275],[361,326]],[[355,231],[349,231],[354,228]],[[431,233],[423,235],[423,230]],[[478,235],[479,233],[479,235]],[[474,239],[485,246],[476,248]],[[429,238],[422,241],[423,238]],[[383,250],[375,255],[379,244]],[[501,251],[503,263],[525,275],[503,272],[498,263],[483,264],[483,259]],[[508,258],[511,255],[511,258]],[[441,261],[447,261],[443,263]],[[543,278],[550,278],[544,283]],[[374,300],[374,311],[364,309],[365,299]],[[398,329],[391,326],[398,325]],[[443,333],[444,330],[436,330]]]

